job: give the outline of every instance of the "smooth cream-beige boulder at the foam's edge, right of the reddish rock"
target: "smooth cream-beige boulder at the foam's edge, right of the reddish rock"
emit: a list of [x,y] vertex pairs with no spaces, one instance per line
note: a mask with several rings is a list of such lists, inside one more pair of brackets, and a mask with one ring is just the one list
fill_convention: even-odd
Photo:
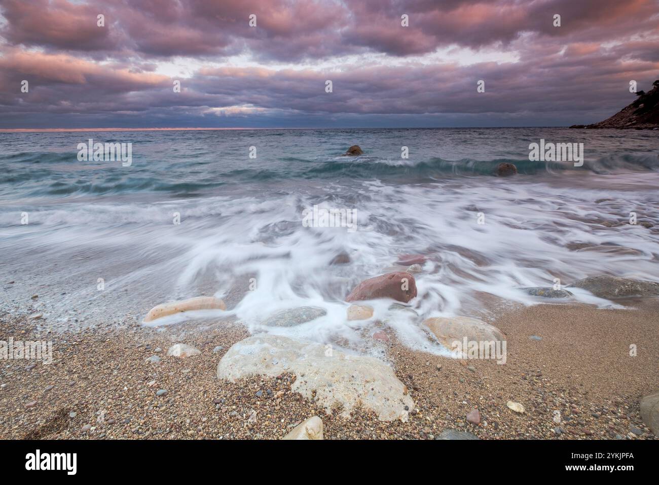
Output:
[[[503,342],[503,333],[494,325],[470,317],[428,318],[423,322],[434,333],[442,345],[454,350],[453,342],[456,340],[463,346],[463,340],[475,342]],[[462,358],[467,358],[466,350]]]

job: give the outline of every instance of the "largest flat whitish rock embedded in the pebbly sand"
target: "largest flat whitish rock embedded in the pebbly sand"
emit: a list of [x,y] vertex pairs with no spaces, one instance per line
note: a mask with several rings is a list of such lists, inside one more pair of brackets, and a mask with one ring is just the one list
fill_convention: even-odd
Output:
[[229,381],[283,372],[297,375],[292,391],[306,399],[315,396],[316,404],[328,413],[333,406],[343,405],[345,418],[361,406],[383,421],[407,421],[408,411],[415,407],[407,387],[384,362],[315,342],[256,335],[231,346],[217,365],[217,377]]

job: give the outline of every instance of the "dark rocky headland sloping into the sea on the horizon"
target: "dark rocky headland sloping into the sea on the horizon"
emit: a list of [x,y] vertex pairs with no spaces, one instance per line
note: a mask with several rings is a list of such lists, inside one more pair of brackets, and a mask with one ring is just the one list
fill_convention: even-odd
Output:
[[648,92],[639,91],[631,104],[612,117],[592,125],[572,125],[570,128],[657,129],[659,127],[659,80]]

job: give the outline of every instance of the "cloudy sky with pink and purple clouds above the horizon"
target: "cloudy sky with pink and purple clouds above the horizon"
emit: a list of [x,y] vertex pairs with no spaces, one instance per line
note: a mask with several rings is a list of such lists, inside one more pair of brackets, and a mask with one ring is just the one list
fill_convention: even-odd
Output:
[[659,0],[0,0],[0,129],[568,126],[656,79]]

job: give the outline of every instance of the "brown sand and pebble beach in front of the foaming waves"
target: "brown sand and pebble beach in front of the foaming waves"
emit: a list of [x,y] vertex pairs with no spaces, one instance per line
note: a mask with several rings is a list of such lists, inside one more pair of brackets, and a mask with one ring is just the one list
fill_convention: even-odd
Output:
[[[433,439],[447,429],[482,439],[656,439],[641,420],[639,401],[659,388],[653,367],[659,302],[629,304],[633,308],[540,304],[502,311],[488,321],[506,335],[503,365],[411,350],[384,327],[386,359],[416,403],[408,422],[383,422],[362,409],[349,420],[339,410],[326,414],[290,390],[293,375],[220,381],[221,356],[249,336],[239,323],[47,334],[36,332],[35,321],[0,315],[0,335],[47,337],[55,359],[29,370],[33,362],[2,362],[0,438],[279,439],[317,415],[325,439]],[[201,354],[166,356],[177,342]],[[631,343],[636,357],[629,356]],[[154,355],[160,362],[145,362]],[[158,396],[159,389],[167,393]],[[525,413],[511,411],[507,401],[523,404]],[[474,408],[478,426],[465,418]]]

